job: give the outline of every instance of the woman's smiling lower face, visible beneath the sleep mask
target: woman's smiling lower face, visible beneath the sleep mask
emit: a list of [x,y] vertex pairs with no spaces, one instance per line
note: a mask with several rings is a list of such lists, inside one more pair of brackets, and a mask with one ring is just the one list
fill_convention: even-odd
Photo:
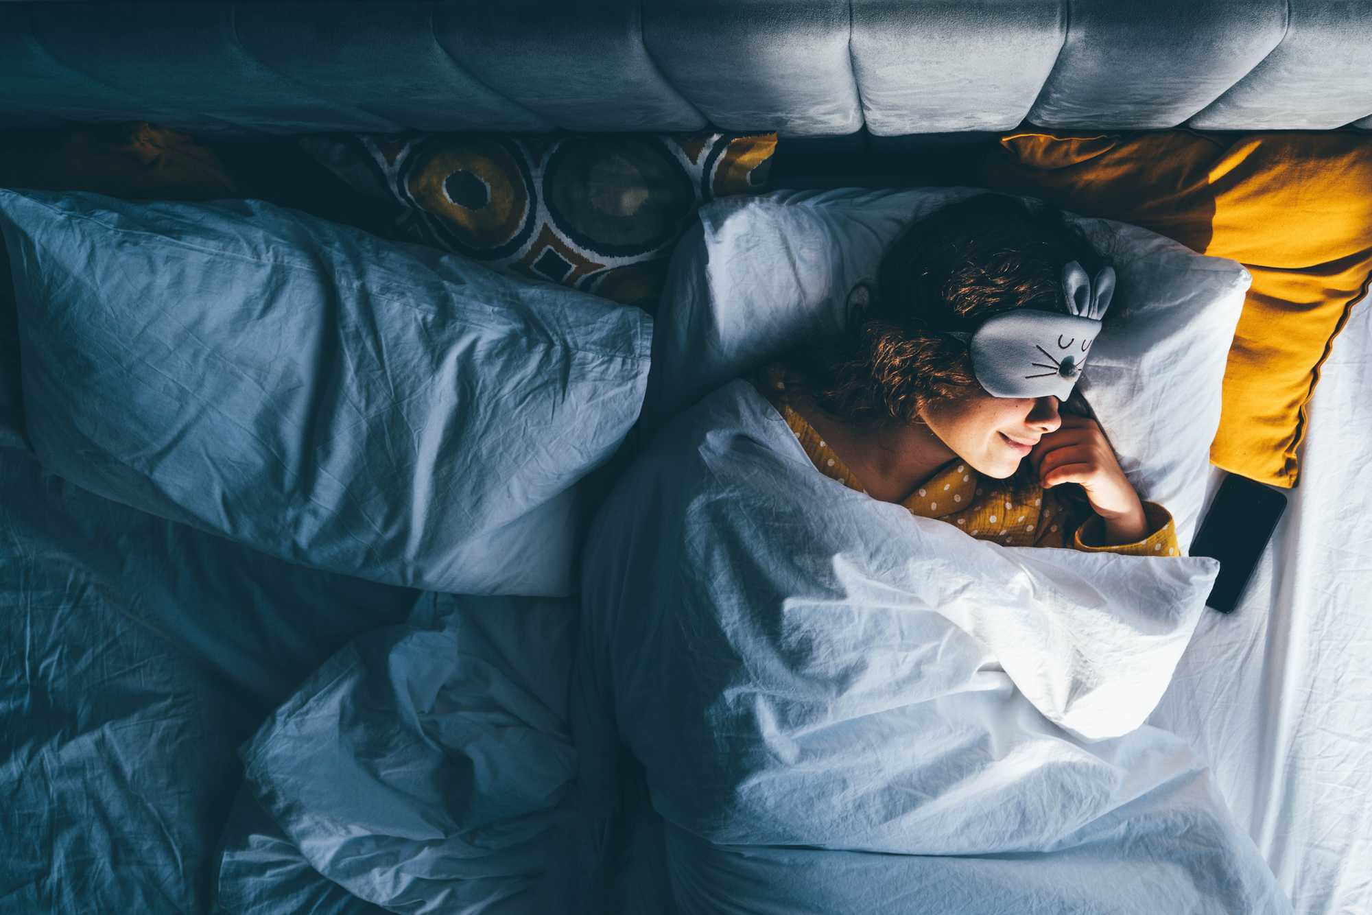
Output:
[[919,416],[929,429],[980,473],[1004,479],[1039,439],[1062,425],[1058,398],[996,398],[981,388],[929,402]]

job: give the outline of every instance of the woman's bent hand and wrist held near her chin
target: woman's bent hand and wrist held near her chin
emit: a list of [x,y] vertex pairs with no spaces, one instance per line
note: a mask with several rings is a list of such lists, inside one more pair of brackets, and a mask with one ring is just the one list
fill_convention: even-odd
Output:
[[1039,439],[1029,461],[1045,490],[1059,483],[1081,484],[1091,508],[1104,521],[1104,545],[1133,543],[1147,536],[1143,502],[1095,420],[1063,413],[1062,425]]

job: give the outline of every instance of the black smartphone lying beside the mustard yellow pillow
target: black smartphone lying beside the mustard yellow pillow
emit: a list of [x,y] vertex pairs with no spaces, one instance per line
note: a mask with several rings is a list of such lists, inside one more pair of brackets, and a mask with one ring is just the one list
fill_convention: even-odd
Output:
[[1233,473],[1224,477],[1191,543],[1191,556],[1220,560],[1207,606],[1231,613],[1239,605],[1283,512],[1284,492]]

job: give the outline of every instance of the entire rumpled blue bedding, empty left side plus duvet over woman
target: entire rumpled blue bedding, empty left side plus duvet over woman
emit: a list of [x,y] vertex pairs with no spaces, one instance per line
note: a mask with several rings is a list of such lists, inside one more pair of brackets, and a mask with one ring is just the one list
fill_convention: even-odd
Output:
[[0,914],[1288,911],[1133,730],[1206,561],[970,543],[735,384],[583,610],[368,582],[47,472],[3,305]]

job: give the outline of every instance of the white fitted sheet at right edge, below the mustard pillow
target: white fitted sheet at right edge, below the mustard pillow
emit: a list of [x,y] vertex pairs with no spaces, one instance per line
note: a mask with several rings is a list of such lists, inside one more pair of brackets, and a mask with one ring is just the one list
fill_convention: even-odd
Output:
[[[1213,472],[1210,495],[1222,473]],[[1231,615],[1207,610],[1151,723],[1216,782],[1294,910],[1372,912],[1372,305],[1335,340],[1301,484]]]

